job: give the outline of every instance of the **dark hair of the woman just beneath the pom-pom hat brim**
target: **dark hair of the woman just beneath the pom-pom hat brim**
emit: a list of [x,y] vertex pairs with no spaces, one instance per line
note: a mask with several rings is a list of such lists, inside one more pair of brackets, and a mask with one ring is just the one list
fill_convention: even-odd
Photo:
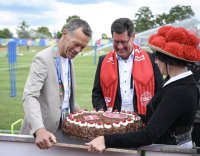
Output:
[[187,66],[187,63],[188,63],[184,60],[180,60],[180,59],[165,55],[159,51],[155,52],[155,57],[158,60],[160,60],[161,62],[165,62],[166,64],[174,65],[174,66],[178,66],[178,67]]

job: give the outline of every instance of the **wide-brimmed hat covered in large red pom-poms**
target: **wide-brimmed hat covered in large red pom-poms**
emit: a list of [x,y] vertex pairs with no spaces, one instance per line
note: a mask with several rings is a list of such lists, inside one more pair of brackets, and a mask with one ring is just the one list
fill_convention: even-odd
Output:
[[163,26],[149,38],[153,51],[187,62],[200,61],[199,39],[185,28]]

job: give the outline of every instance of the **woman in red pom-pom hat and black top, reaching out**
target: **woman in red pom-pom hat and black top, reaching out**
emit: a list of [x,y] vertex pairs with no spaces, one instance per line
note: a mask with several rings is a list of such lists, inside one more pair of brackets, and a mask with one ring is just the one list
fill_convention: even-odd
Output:
[[188,62],[200,60],[199,39],[184,28],[161,27],[149,38],[164,86],[147,105],[146,126],[136,132],[108,134],[89,143],[88,151],[108,147],[133,148],[144,145],[180,145],[191,141],[191,128],[197,111],[199,91]]

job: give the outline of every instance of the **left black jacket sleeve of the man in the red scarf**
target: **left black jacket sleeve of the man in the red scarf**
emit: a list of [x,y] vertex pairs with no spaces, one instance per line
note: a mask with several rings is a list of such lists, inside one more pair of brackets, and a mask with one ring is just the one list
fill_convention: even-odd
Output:
[[100,84],[100,71],[101,71],[101,64],[103,62],[104,56],[99,57],[98,66],[96,69],[94,85],[92,89],[92,105],[96,110],[104,109],[106,110],[106,103],[103,97],[103,92]]

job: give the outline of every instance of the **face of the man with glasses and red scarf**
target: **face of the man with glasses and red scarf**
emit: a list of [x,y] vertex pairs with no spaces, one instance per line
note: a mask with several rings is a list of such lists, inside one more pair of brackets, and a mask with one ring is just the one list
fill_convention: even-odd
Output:
[[133,40],[134,34],[129,37],[128,32],[125,31],[122,34],[117,34],[113,32],[113,48],[116,51],[117,55],[122,59],[128,59],[130,54],[133,51]]

